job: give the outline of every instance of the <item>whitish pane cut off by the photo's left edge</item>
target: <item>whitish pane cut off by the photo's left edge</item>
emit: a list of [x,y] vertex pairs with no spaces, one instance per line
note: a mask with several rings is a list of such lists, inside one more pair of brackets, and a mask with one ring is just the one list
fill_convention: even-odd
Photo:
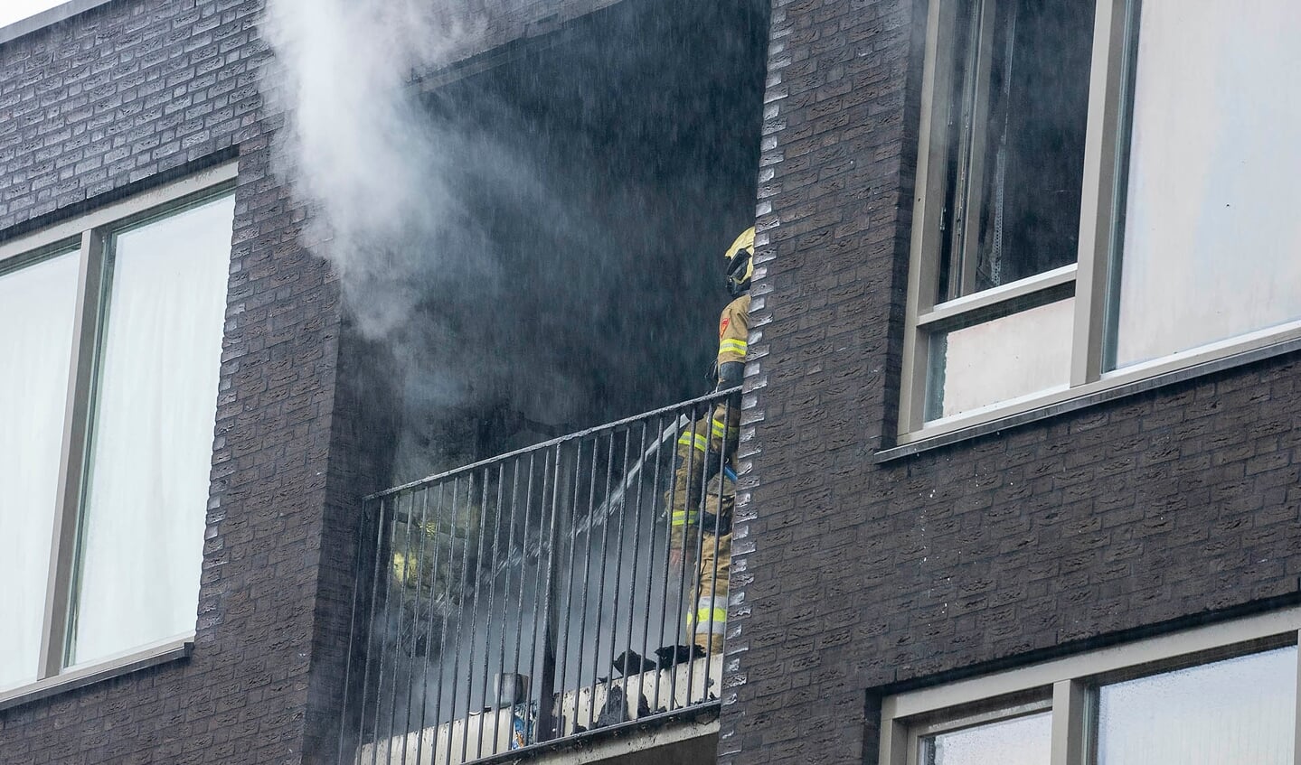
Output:
[[0,275],[0,688],[36,679],[75,303],[75,252]]

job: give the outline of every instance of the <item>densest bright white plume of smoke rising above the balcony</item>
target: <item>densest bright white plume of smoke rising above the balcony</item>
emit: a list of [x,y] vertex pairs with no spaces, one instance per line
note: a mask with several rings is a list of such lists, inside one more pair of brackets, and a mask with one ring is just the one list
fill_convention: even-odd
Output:
[[307,236],[329,258],[359,326],[384,336],[420,299],[446,252],[412,247],[466,235],[440,171],[454,138],[422,110],[411,78],[472,49],[483,22],[429,0],[268,0],[275,52],[264,77],[285,114],[275,169],[314,213]]

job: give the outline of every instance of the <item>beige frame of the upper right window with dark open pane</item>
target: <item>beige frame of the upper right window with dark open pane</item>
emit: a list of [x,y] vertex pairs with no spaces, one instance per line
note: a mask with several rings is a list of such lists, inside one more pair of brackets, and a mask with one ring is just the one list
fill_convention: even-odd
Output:
[[[997,0],[980,1],[991,5]],[[1211,371],[1296,349],[1294,340],[1301,339],[1301,321],[1240,334],[1121,369],[1105,368],[1108,291],[1119,274],[1141,6],[1142,0],[1097,0],[1076,262],[937,303],[939,245],[945,235],[939,230],[946,173],[942,160],[947,156],[943,125],[954,107],[946,95],[952,92],[954,68],[948,53],[941,52],[952,51],[954,35],[960,30],[954,23],[952,4],[928,4],[899,412],[895,448],[882,452],[882,458],[920,451],[925,448],[925,442],[937,436],[951,436],[939,439],[939,445],[968,431],[973,436],[986,433],[999,421],[1015,425],[1024,421],[1019,416],[1026,413],[1038,410],[1045,417],[1051,416],[1075,408],[1063,404],[1115,388],[1129,386],[1132,391],[1140,391],[1187,379],[1187,374],[1172,373],[1189,368],[1205,366],[1205,371]],[[948,417],[925,420],[932,335],[981,323],[985,317],[999,312],[1019,312],[1067,296],[1075,299],[1075,316],[1069,338],[1071,373],[1064,388],[1058,386]],[[1153,384],[1144,384],[1149,382]]]

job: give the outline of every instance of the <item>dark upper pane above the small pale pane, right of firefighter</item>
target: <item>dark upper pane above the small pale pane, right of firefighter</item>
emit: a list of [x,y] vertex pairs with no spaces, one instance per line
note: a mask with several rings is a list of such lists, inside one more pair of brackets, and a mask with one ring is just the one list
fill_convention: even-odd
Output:
[[1093,3],[960,5],[939,301],[1076,260]]

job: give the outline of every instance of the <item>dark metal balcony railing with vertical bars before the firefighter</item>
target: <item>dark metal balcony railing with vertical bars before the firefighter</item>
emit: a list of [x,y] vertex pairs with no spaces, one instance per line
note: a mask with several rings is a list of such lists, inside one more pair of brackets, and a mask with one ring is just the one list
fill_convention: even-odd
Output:
[[716,700],[736,395],[367,497],[340,762],[453,765]]

